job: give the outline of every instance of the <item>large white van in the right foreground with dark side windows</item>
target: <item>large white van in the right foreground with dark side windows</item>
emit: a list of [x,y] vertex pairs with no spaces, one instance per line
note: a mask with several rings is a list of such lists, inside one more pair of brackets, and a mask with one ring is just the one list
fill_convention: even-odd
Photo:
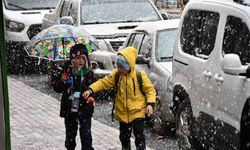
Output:
[[181,149],[250,148],[250,2],[192,0],[173,55]]

